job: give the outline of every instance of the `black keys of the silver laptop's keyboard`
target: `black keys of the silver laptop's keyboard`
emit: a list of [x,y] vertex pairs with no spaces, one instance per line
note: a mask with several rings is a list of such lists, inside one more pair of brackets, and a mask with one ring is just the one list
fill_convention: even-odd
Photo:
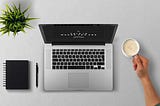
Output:
[[52,69],[105,69],[104,49],[53,49]]

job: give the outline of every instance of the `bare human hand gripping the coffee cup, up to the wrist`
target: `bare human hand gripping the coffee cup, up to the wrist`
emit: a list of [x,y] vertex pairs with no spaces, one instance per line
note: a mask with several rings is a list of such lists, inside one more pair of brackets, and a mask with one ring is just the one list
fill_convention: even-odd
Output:
[[140,79],[148,78],[148,59],[141,56],[136,55],[134,56],[133,60],[133,68],[136,71],[138,77]]

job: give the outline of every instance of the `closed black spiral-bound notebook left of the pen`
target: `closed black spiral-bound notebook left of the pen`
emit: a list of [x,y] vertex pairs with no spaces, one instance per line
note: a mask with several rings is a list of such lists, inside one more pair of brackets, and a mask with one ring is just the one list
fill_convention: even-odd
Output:
[[6,89],[29,89],[29,61],[6,60],[4,80]]

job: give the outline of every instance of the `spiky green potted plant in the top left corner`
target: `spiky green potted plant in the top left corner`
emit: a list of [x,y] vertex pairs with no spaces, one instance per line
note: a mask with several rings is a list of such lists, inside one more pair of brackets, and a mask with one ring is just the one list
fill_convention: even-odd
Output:
[[16,36],[18,32],[25,32],[25,28],[31,29],[32,26],[29,25],[29,21],[37,18],[30,18],[29,14],[25,16],[28,10],[29,7],[22,11],[20,3],[18,7],[14,3],[10,6],[7,4],[0,16],[0,24],[3,25],[0,28],[2,35],[6,33],[10,35],[10,32],[13,32],[13,35]]

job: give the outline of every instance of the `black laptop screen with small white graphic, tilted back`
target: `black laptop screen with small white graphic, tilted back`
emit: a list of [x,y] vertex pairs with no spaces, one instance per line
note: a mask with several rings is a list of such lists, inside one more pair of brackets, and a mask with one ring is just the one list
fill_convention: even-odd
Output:
[[40,24],[45,43],[104,44],[112,43],[117,24]]

